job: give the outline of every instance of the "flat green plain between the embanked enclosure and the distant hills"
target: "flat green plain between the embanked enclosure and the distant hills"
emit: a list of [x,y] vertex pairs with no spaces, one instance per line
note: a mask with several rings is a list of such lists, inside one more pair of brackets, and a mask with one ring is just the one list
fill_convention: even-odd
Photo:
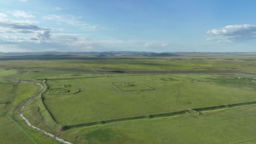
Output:
[[[227,59],[89,59],[89,60],[9,60],[1,67],[27,70],[21,74],[25,79],[57,76],[72,72],[109,73],[113,70],[125,70],[130,73],[153,73],[154,71],[219,71],[255,73],[255,61]],[[95,71],[94,71],[95,70]],[[149,71],[150,70],[150,71]],[[35,72],[36,71],[36,72]],[[47,71],[47,73],[45,73]],[[55,72],[55,73],[54,73]],[[58,74],[57,74],[58,73]],[[157,73],[157,72],[156,72]],[[170,72],[171,73],[171,72]]]

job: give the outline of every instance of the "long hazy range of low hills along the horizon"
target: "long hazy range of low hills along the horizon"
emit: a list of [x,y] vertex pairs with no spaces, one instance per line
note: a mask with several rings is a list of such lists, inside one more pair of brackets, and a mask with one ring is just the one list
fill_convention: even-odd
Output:
[[[161,58],[161,57],[192,57],[201,58],[218,58],[233,59],[240,56],[247,58],[256,58],[256,52],[0,52],[0,60],[15,59],[92,59],[92,58]],[[235,56],[235,57],[234,57]]]

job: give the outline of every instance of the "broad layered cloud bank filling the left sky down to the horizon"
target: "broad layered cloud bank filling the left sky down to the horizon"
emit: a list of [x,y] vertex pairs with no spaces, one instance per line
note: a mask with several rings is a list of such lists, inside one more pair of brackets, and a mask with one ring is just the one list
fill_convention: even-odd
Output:
[[[60,24],[55,25],[58,27],[68,25],[76,28],[77,31],[88,32],[77,34],[77,31],[73,30],[42,27],[38,21],[28,20],[30,18],[53,21],[52,23]],[[23,10],[8,10],[0,13],[0,51],[134,51],[138,49],[156,51],[155,49],[159,48],[169,48],[168,43],[150,40],[99,40],[87,37],[90,35],[89,31],[100,30],[113,29],[105,28],[100,24],[87,24],[81,16],[47,15],[36,18]]]

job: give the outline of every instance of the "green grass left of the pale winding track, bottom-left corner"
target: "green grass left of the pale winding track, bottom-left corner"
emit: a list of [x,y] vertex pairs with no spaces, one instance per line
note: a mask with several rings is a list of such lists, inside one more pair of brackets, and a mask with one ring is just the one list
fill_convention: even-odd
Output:
[[[13,87],[13,83],[4,85],[10,85]],[[21,117],[18,116],[19,110],[21,105],[24,104],[24,101],[30,98],[31,95],[35,94],[38,90],[39,87],[37,85],[29,83],[18,84],[11,103],[7,105],[6,110],[4,111],[7,112],[7,110],[9,110],[9,116],[3,114],[0,117],[1,144],[60,144],[52,138],[45,136],[43,133],[26,126]],[[10,97],[10,91],[6,92],[8,92],[9,95],[5,93],[4,96]],[[3,95],[1,94],[1,96]],[[3,109],[1,108],[0,110]]]

